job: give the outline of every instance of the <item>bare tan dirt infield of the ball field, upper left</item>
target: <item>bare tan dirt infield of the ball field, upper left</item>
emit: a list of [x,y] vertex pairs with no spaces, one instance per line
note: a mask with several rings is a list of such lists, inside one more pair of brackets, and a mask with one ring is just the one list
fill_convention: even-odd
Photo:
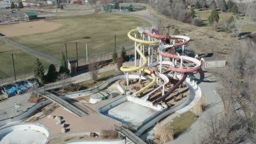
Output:
[[20,35],[50,32],[60,27],[62,27],[61,23],[46,22],[42,20],[1,25],[0,33],[4,34],[6,37],[15,37]]

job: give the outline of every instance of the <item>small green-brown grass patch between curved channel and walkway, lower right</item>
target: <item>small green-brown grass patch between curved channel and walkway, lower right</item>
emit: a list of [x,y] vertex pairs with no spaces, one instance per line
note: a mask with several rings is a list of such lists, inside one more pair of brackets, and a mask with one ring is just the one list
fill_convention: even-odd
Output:
[[185,112],[181,117],[176,117],[173,119],[173,136],[177,137],[187,130],[198,118],[194,117],[195,114],[191,111]]

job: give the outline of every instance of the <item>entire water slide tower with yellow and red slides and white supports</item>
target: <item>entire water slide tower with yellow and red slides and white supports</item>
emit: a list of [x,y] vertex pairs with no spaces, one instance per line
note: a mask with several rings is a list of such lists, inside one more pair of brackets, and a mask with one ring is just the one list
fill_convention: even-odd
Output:
[[[143,39],[137,39],[136,33],[139,32],[139,35],[141,35],[141,38]],[[135,35],[135,37],[132,37],[132,33]],[[136,95],[139,93],[142,93],[146,91],[146,89],[153,86],[153,84],[158,82],[158,79],[156,79],[155,75],[158,76],[160,79],[164,80],[164,84],[162,87],[158,87],[154,89],[154,91],[158,91],[159,89],[162,90],[162,97],[154,100],[153,104],[159,104],[160,101],[166,99],[175,89],[181,85],[184,80],[187,78],[188,73],[197,71],[200,69],[200,61],[188,57],[188,56],[181,56],[179,53],[174,52],[173,48],[182,46],[182,54],[184,55],[184,45],[188,44],[190,41],[189,37],[183,36],[183,35],[160,35],[159,32],[154,28],[137,28],[133,29],[128,33],[128,37],[135,41],[135,47],[136,51],[141,56],[141,60],[139,62],[139,67],[136,67],[136,51],[135,51],[135,67],[121,67],[120,70],[126,73],[126,81],[128,81],[129,76],[128,72],[139,70],[139,74],[141,74],[141,70],[147,71],[146,73],[150,74],[152,76],[153,81],[150,82],[146,87],[143,87],[139,91],[136,92]],[[148,41],[145,40],[145,37],[148,38]],[[165,40],[170,40],[171,44],[167,44]],[[159,43],[159,41],[161,41]],[[136,42],[140,43],[136,46]],[[147,59],[144,56],[144,46],[145,45],[158,45],[158,60],[155,62],[153,61],[153,49],[148,47],[148,66],[149,70],[145,69],[147,65]],[[139,49],[141,48],[141,49]],[[170,51],[170,53],[166,53],[166,51]],[[143,51],[143,53],[142,53]],[[141,64],[143,59],[143,64]],[[158,67],[159,72],[153,69],[153,67]],[[179,79],[179,81],[174,85],[170,91],[167,93],[165,92],[165,85],[167,85],[168,81],[166,81],[166,76],[162,74],[162,69],[167,69],[171,71],[171,76],[173,79]],[[150,71],[150,72],[149,72]],[[128,85],[128,83],[127,83]],[[152,93],[154,94],[154,93]],[[150,98],[150,97],[148,97]]]

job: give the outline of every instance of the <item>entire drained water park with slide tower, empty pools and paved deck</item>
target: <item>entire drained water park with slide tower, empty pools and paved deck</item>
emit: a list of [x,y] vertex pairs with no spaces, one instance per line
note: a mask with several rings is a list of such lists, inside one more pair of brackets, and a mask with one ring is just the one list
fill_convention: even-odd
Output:
[[[40,86],[36,77],[2,84],[8,99],[0,105],[0,143],[28,143],[33,137],[40,137],[36,143],[145,143],[148,137],[142,137],[156,123],[173,113],[191,111],[202,92],[190,76],[201,68],[201,62],[186,51],[190,38],[160,35],[158,29],[143,26],[127,37],[134,42],[134,53],[126,56],[120,71],[115,70],[118,73],[107,79],[103,75],[109,71],[99,73],[101,83],[88,84],[84,73],[69,78],[71,84]],[[117,66],[102,69],[108,67]],[[81,83],[86,88],[76,88]],[[31,136],[23,141],[17,135]]]

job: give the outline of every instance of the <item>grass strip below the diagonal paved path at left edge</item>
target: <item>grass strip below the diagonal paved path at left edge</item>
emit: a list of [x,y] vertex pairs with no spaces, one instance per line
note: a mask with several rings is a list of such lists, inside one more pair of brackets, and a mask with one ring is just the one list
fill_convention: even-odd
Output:
[[[32,73],[36,57],[28,55],[27,53],[0,41],[0,79],[13,77],[13,60],[11,59],[11,53],[13,53],[17,76],[24,75],[25,73]],[[48,65],[47,62],[41,62],[44,65]],[[0,83],[2,83],[1,80]]]

